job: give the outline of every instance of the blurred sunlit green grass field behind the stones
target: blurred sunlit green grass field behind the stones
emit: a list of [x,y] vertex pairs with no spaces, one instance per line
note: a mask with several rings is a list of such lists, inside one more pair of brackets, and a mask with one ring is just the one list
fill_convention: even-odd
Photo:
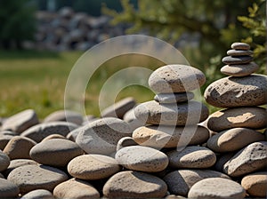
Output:
[[[39,118],[64,108],[64,91],[71,68],[82,52],[0,52],[0,116],[10,116],[26,108]],[[131,60],[131,61],[129,61]],[[91,78],[85,93],[86,114],[99,115],[98,98],[109,76],[131,66],[156,69],[163,63],[149,57],[129,55],[103,64]],[[133,96],[138,102],[151,100],[153,93],[141,86],[129,86],[117,100]]]

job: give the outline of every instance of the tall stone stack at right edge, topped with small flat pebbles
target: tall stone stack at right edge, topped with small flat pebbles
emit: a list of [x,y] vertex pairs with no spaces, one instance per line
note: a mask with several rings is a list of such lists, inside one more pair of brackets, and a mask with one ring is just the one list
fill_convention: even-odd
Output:
[[267,112],[259,106],[267,103],[267,76],[253,74],[258,66],[248,44],[234,43],[231,48],[221,69],[228,76],[210,84],[204,94],[207,103],[225,108],[207,120],[207,127],[217,132],[207,147],[220,154],[218,170],[241,179],[248,195],[266,197]]

